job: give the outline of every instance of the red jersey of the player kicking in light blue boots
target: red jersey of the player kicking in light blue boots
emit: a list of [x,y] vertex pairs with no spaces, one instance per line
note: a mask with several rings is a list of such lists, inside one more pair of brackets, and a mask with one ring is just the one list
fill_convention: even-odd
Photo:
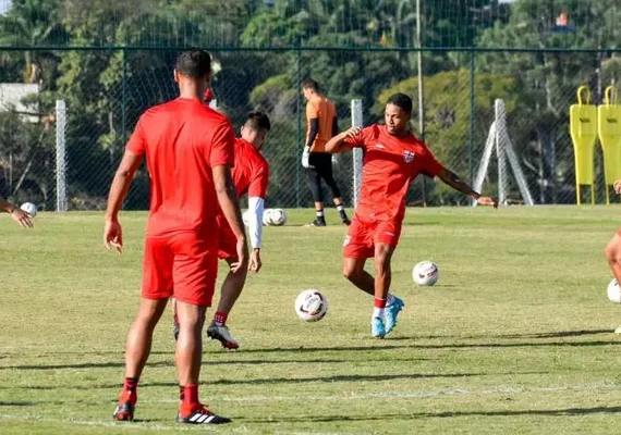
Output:
[[442,165],[413,134],[392,136],[385,125],[363,128],[345,144],[363,149],[361,197],[356,214],[367,220],[403,219],[405,195],[418,174],[437,176]]

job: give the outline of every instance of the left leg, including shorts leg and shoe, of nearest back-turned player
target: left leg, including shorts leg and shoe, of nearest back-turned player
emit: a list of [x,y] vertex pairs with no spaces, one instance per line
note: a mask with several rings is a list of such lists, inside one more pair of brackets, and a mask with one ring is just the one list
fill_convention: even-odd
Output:
[[147,239],[143,262],[143,289],[138,313],[125,346],[125,380],[114,420],[133,420],[138,380],[148,359],[154,328],[172,296],[172,254],[167,240]]

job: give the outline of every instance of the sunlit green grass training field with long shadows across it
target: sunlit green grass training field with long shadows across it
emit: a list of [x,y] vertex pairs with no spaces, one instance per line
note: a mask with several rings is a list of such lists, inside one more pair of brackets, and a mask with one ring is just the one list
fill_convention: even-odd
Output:
[[[200,396],[234,419],[220,427],[174,423],[168,313],[139,421],[111,421],[146,214],[122,215],[122,257],[104,249],[100,213],[40,214],[34,231],[3,216],[0,433],[618,433],[621,311],[602,249],[619,208],[409,211],[392,286],[406,306],[385,340],[370,337],[372,300],[341,276],[344,228],[301,227],[310,214],[267,228],[265,269],[230,318],[242,349],[206,343]],[[440,281],[418,288],[411,269],[425,259]],[[293,311],[309,287],[330,300],[316,324]]]

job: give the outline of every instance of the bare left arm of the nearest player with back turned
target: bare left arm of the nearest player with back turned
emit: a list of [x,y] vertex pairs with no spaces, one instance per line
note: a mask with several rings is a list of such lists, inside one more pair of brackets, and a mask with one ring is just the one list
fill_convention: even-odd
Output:
[[123,251],[123,229],[119,223],[119,211],[123,200],[130,190],[134,174],[143,162],[144,156],[125,151],[119,169],[114,174],[110,194],[108,195],[108,208],[106,209],[106,226],[104,228],[104,244],[106,248],[114,248],[117,252]]

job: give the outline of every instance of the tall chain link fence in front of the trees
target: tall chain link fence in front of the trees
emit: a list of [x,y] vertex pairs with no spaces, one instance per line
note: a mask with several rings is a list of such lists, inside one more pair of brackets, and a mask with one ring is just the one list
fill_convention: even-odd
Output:
[[[351,125],[350,102],[363,100],[364,123],[382,121],[383,102],[395,91],[412,96],[417,107],[415,49],[287,50],[219,49],[214,91],[220,110],[239,130],[245,114],[263,110],[272,129],[264,154],[271,167],[269,207],[310,207],[310,191],[301,166],[306,134],[305,101],[300,83],[316,78],[338,107],[340,128]],[[4,49],[2,82],[20,83],[28,62],[41,65],[38,92],[0,109],[0,195],[33,201],[42,210],[56,207],[56,100],[66,103],[66,182],[70,210],[101,210],[114,170],[134,125],[147,108],[175,98],[173,49]],[[621,73],[610,50],[434,50],[424,52],[425,139],[437,158],[471,182],[478,171],[495,101],[507,108],[509,137],[535,203],[575,201],[573,148],[569,108],[580,85],[590,86],[594,103]],[[443,66],[441,66],[443,65]],[[15,102],[15,101],[14,101]],[[415,109],[412,129],[417,130]],[[344,200],[352,204],[352,156],[334,163]],[[521,203],[511,167],[510,203]],[[596,152],[598,201],[604,175]],[[148,208],[148,174],[142,169],[124,204]],[[483,190],[498,191],[492,157]],[[411,206],[467,204],[449,188],[418,178],[410,190]]]

